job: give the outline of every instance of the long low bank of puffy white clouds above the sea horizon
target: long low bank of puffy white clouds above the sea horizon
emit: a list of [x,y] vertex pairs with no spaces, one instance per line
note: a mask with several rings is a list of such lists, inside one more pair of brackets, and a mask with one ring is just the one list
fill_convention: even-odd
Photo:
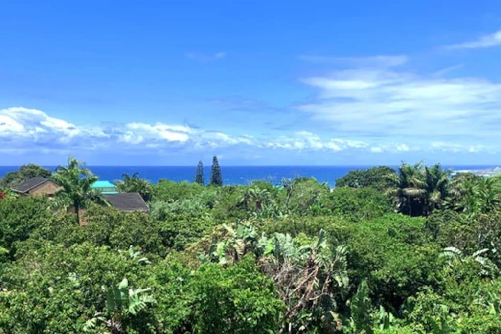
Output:
[[[348,122],[349,120],[345,120]],[[363,122],[363,120],[358,120]],[[0,110],[0,147],[2,152],[74,152],[75,150],[155,150],[206,149],[229,146],[254,147],[296,151],[401,153],[421,150],[405,142],[360,140],[350,137],[326,137],[307,130],[292,132],[289,136],[253,137],[231,135],[222,131],[194,129],[185,125],[131,122],[112,127],[79,126],[48,116],[37,109],[24,107]],[[433,141],[422,145],[429,151],[480,152],[493,151],[477,143],[461,144],[449,141]]]

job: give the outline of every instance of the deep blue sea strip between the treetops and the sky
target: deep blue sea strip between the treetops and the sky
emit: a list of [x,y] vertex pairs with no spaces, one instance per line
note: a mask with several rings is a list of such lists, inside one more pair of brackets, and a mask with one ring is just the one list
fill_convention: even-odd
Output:
[[[44,166],[54,170],[56,166]],[[373,166],[221,166],[224,184],[248,184],[255,180],[263,180],[272,184],[280,184],[283,178],[299,176],[314,177],[319,182],[327,182],[334,187],[335,180],[346,175],[350,170],[368,169]],[[396,166],[392,166],[396,168]],[[485,169],[495,166],[444,166],[452,170]],[[15,171],[19,166],[0,166],[0,177]],[[195,166],[87,166],[100,180],[117,181],[122,174],[139,173],[139,177],[156,183],[160,179],[192,182]],[[210,166],[204,167],[205,181],[210,176]]]

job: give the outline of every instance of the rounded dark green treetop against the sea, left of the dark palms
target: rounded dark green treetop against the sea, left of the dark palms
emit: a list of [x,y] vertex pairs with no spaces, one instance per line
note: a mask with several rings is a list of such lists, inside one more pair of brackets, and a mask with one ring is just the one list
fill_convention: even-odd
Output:
[[348,174],[336,180],[336,187],[372,187],[383,191],[395,186],[392,181],[395,176],[395,170],[387,166],[351,170]]

